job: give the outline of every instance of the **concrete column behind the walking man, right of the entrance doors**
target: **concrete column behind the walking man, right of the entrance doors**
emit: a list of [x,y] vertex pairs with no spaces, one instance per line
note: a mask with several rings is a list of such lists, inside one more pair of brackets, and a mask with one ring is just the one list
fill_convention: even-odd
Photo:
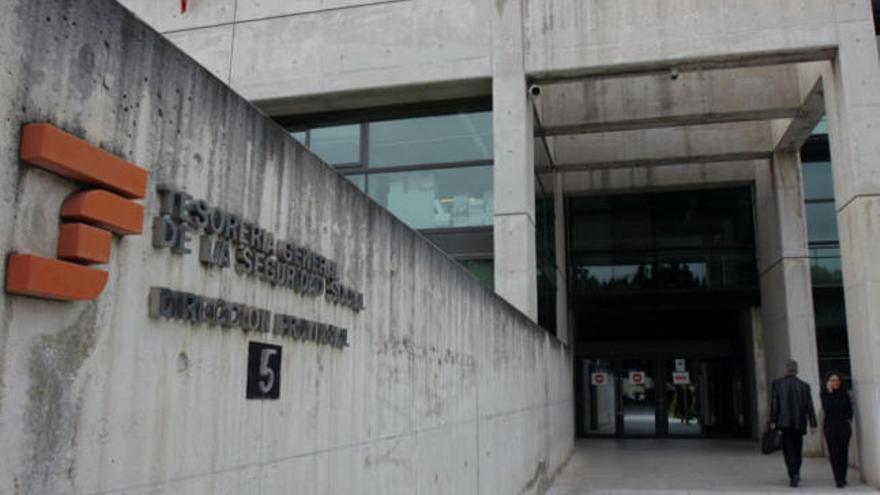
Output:
[[[795,359],[819,406],[819,361],[813,288],[807,248],[801,162],[797,152],[776,152],[755,171],[758,270],[766,372],[772,381]],[[822,452],[820,435],[809,435],[805,452]]]

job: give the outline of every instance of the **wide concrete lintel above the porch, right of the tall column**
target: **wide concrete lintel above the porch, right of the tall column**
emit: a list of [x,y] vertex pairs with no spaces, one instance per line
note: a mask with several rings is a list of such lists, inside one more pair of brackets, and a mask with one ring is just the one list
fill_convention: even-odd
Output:
[[828,60],[828,0],[525,0],[534,80]]

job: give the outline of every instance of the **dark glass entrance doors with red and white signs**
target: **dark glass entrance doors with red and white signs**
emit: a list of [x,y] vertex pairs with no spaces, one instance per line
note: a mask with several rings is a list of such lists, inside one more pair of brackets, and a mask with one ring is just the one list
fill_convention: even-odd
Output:
[[588,358],[581,370],[584,435],[748,434],[745,372],[735,359]]

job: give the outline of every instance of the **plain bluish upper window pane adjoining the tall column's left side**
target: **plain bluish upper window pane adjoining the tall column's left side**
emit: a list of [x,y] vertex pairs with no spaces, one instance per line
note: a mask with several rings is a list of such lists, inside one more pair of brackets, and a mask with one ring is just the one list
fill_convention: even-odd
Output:
[[370,123],[369,166],[492,159],[492,112]]

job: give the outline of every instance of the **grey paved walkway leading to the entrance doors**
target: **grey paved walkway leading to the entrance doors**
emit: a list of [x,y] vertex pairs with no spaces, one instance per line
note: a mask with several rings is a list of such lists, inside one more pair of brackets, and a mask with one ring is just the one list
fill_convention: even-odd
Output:
[[825,459],[804,459],[801,487],[789,488],[781,453],[762,455],[741,440],[579,441],[548,495],[880,493],[859,482],[835,488]]

